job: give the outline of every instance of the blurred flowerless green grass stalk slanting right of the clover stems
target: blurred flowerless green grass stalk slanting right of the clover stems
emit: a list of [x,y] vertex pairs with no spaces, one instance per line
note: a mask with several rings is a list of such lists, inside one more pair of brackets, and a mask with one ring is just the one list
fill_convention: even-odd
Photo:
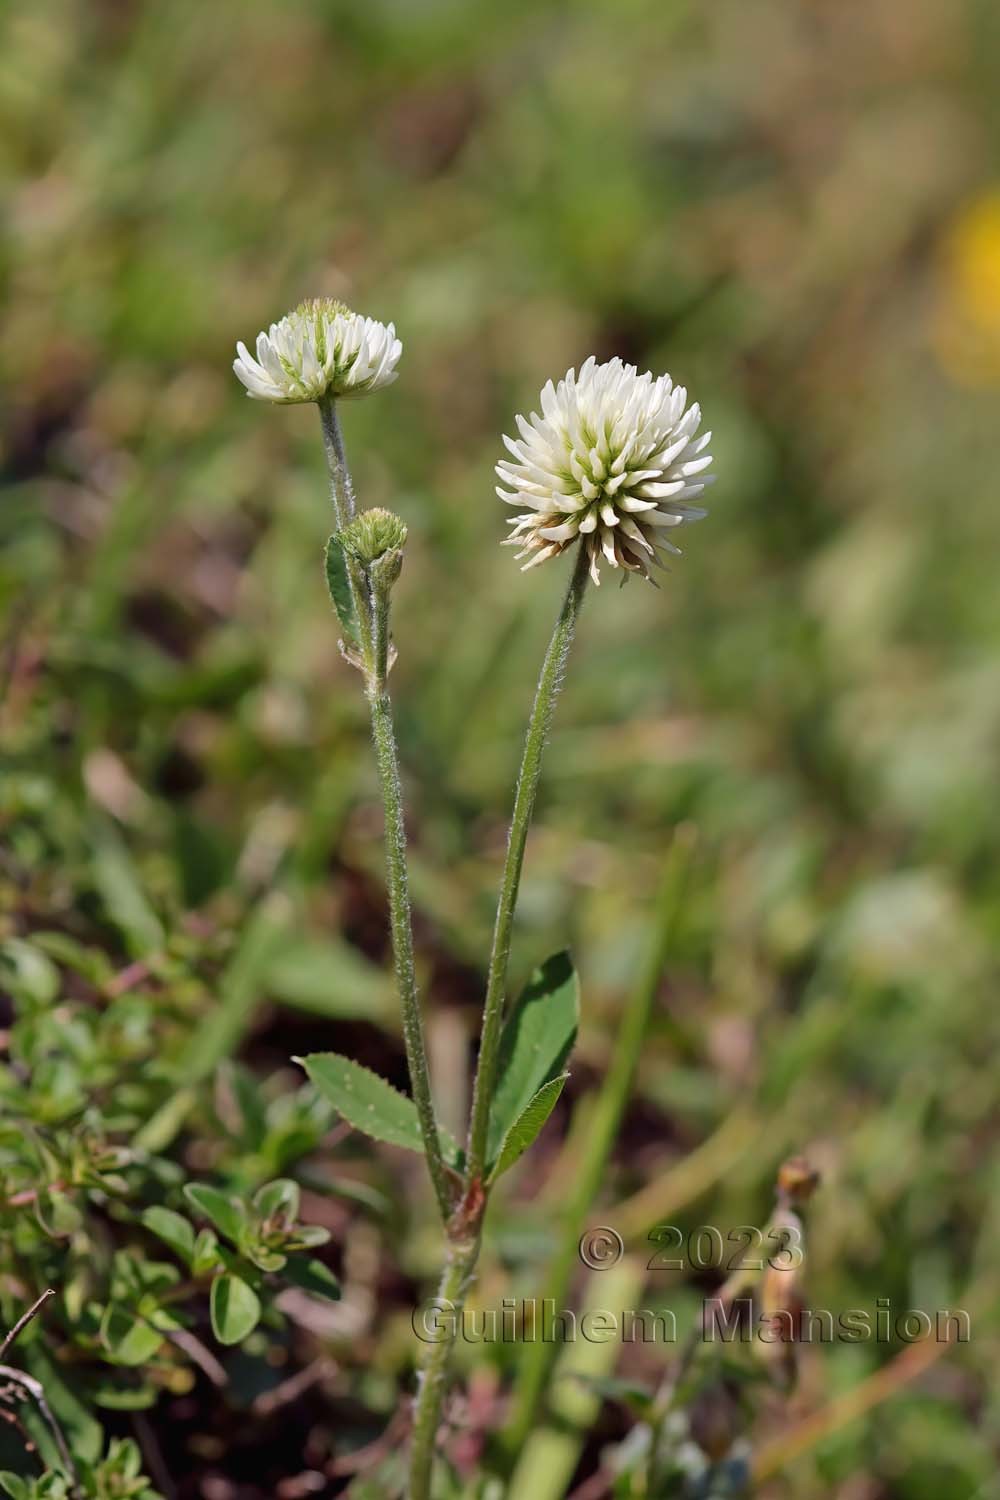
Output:
[[[573,1270],[577,1264],[580,1234],[586,1215],[597,1197],[615,1138],[625,1113],[649,1018],[660,988],[660,980],[673,945],[678,916],[687,890],[694,849],[694,830],[684,825],[675,834],[666,860],[663,880],[652,918],[652,938],[639,982],[634,986],[604,1076],[597,1101],[586,1120],[586,1146],[562,1214],[559,1248],[556,1250],[543,1290],[543,1306],[562,1311],[567,1305]],[[538,1408],[549,1389],[552,1370],[559,1353],[556,1342],[525,1344],[514,1392],[513,1410],[502,1434],[504,1452],[510,1461],[522,1450],[531,1428],[538,1420]]]

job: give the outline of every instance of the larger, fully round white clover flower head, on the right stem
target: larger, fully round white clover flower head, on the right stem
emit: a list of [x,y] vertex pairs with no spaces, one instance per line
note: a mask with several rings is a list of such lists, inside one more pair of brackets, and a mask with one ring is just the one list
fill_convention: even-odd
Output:
[[[600,566],[651,578],[660,549],[679,552],[667,532],[706,514],[688,504],[712,483],[699,436],[702,408],[669,375],[640,375],[634,364],[591,356],[541,392],[541,416],[517,417],[520,438],[496,465],[508,506],[526,506],[510,522],[508,546],[520,546],[525,568],[558,556],[580,538],[591,576]],[[504,488],[505,486],[505,488]]]

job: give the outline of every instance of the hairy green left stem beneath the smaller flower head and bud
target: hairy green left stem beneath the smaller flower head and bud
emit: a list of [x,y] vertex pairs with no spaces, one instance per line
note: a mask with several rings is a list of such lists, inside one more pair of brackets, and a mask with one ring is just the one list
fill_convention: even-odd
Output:
[[[337,418],[336,402],[324,398],[318,402],[322,440],[330,468],[330,494],[337,530],[354,518],[354,486],[343,450],[343,436]],[[382,807],[385,814],[385,885],[388,890],[388,915],[393,938],[393,968],[396,992],[403,1022],[403,1044],[409,1084],[417,1106],[420,1134],[427,1156],[427,1170],[433,1184],[441,1216],[447,1221],[453,1208],[453,1194],[441,1152],[441,1137],[430,1094],[430,1071],[424,1046],[423,1017],[417,994],[417,970],[414,966],[414,933],[409,910],[409,880],[406,874],[406,825],[403,820],[403,789],[399,780],[399,758],[396,754],[396,732],[393,706],[385,680],[388,675],[388,591],[373,590],[364,568],[348,560],[348,579],[354,596],[354,609],[361,636],[364,666],[364,693],[372,712],[372,741],[378,766]]]

